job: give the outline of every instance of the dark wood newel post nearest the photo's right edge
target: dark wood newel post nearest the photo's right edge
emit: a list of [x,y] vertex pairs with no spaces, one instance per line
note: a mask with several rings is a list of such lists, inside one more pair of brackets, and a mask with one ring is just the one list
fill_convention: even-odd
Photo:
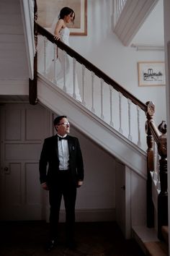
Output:
[[161,192],[158,195],[158,238],[162,239],[161,226],[168,226],[166,122],[162,121],[158,129],[161,132],[158,139],[158,154],[161,157],[159,160]]

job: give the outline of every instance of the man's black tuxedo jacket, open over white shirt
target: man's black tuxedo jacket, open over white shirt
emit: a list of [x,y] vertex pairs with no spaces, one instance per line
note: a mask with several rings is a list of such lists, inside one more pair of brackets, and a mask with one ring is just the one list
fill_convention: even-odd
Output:
[[[69,170],[73,182],[77,184],[84,179],[84,163],[81,154],[79,140],[76,137],[68,136]],[[47,170],[48,166],[48,170]],[[40,155],[40,183],[47,182],[48,186],[58,179],[59,158],[58,158],[58,136],[48,137],[44,140]]]

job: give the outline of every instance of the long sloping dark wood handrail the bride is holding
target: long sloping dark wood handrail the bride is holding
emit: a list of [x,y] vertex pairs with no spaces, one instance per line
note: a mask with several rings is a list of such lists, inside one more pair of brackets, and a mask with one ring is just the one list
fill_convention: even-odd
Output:
[[94,72],[94,74],[97,75],[97,77],[101,78],[106,82],[107,84],[111,85],[115,90],[122,93],[122,95],[125,96],[125,98],[129,98],[130,101],[132,101],[135,105],[139,106],[143,111],[147,111],[147,106],[145,103],[140,101],[138,98],[136,98],[134,95],[132,95],[128,90],[125,90],[125,88],[122,88],[121,85],[119,85],[115,80],[113,80],[111,77],[109,77],[107,74],[102,72],[101,69],[96,67],[94,64],[91,64],[90,61],[85,59],[83,56],[78,54],[76,51],[74,51],[72,48],[67,46],[65,43],[61,42],[61,40],[55,40],[54,35],[51,34],[48,30],[46,30],[44,27],[39,25],[37,23],[37,33],[40,33],[41,35],[45,36],[50,40],[51,43],[55,43],[59,48],[61,48],[63,51],[66,51],[68,55],[76,59],[80,64],[83,64],[86,69],[89,69],[91,72]]

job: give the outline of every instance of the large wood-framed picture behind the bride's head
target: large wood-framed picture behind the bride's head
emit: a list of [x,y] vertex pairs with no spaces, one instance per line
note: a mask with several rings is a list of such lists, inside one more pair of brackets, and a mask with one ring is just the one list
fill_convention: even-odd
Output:
[[37,0],[37,23],[50,30],[63,7],[75,12],[74,23],[68,26],[70,35],[87,35],[87,0]]

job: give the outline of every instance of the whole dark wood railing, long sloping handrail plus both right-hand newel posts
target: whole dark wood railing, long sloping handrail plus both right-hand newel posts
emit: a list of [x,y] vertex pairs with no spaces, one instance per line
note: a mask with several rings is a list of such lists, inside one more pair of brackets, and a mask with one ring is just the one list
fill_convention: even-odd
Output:
[[168,210],[167,210],[167,163],[166,163],[166,137],[161,135],[153,122],[153,114],[155,107],[152,102],[143,103],[138,98],[135,98],[128,90],[122,88],[117,82],[112,80],[107,74],[98,69],[90,61],[86,60],[83,56],[78,54],[72,48],[66,46],[61,40],[55,40],[53,34],[45,30],[44,27],[37,24],[37,33],[48,38],[51,43],[55,43],[59,48],[76,59],[80,64],[83,64],[86,69],[97,75],[97,77],[102,78],[104,82],[111,85],[112,88],[122,93],[125,98],[130,99],[136,106],[139,106],[146,113],[146,134],[147,134],[147,168],[148,168],[148,181],[147,181],[147,222],[148,227],[154,226],[154,208],[152,202],[152,181],[150,171],[153,171],[153,139],[156,140],[158,145],[158,153],[161,156],[160,160],[160,177],[161,177],[161,193],[158,195],[158,236],[160,237],[160,227],[167,222]]

